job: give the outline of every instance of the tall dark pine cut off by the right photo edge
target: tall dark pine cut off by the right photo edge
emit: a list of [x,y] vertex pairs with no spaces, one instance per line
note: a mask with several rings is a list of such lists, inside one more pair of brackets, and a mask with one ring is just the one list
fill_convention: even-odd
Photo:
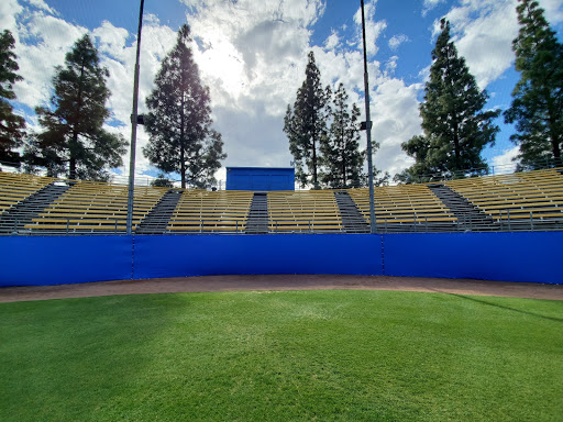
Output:
[[563,149],[563,45],[543,16],[537,1],[520,0],[516,8],[520,31],[512,42],[520,80],[505,121],[518,133],[519,168],[533,169],[545,160],[562,165]]

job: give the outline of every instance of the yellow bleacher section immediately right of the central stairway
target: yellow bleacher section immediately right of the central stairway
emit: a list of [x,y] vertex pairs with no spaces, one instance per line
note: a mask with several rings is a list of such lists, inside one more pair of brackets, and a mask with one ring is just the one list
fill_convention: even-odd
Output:
[[332,190],[271,191],[267,201],[271,232],[319,233],[343,230]]

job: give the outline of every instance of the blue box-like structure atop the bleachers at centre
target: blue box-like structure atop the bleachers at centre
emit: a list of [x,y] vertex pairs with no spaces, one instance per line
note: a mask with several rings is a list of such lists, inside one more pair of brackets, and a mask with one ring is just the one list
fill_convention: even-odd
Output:
[[295,190],[295,168],[227,167],[227,190]]

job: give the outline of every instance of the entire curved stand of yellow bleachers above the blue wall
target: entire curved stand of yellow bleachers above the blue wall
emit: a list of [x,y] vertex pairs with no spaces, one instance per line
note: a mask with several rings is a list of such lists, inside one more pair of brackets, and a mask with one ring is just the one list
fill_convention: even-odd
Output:
[[[563,229],[562,169],[451,180],[441,182],[440,189],[435,186],[375,188],[378,231],[467,230],[467,215],[440,198],[440,189],[464,202],[472,214],[481,215],[489,230],[504,230],[506,223],[512,229],[520,224],[523,230]],[[169,215],[154,219],[158,203],[172,193],[179,199]],[[253,198],[253,191],[135,187],[133,230],[141,233],[137,229],[151,224],[148,221],[164,221],[159,229],[163,234],[245,233]],[[0,234],[124,233],[126,209],[128,187],[123,185],[0,173]],[[153,219],[148,219],[151,214]],[[271,191],[264,219],[268,233],[367,230],[368,190]]]

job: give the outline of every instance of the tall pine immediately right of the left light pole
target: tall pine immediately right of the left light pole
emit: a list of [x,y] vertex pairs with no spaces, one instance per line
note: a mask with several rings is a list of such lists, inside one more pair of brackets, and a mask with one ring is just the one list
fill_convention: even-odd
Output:
[[203,188],[227,158],[221,134],[211,129],[209,88],[201,84],[184,25],[173,51],[164,58],[155,78],[156,88],[146,100],[150,135],[145,156],[159,170],[179,173],[186,184]]

